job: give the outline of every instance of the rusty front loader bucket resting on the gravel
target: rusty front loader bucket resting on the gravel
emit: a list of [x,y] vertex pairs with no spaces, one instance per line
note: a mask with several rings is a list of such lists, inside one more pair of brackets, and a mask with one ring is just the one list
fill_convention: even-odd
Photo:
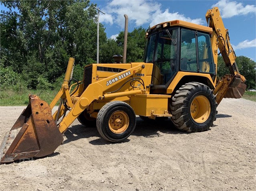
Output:
[[27,108],[4,136],[0,163],[52,154],[63,141],[50,106],[38,96],[29,95],[29,98]]

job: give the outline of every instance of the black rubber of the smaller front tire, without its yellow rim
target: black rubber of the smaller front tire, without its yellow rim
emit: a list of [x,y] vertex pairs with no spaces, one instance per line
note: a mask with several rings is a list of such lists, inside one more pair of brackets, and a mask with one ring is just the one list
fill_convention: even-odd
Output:
[[[127,114],[129,118],[129,126],[125,132],[121,134],[116,134],[112,132],[109,128],[109,118],[115,111],[123,111]],[[129,104],[122,101],[112,101],[105,104],[98,113],[96,119],[96,126],[99,134],[102,138],[110,142],[121,142],[128,138],[136,126],[136,116],[133,111],[133,108]]]

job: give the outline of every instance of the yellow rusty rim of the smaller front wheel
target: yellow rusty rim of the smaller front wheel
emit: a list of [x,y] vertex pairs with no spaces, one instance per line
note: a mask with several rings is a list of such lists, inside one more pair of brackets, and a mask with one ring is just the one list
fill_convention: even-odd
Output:
[[121,134],[129,127],[129,116],[124,111],[115,111],[109,118],[109,129],[115,134]]

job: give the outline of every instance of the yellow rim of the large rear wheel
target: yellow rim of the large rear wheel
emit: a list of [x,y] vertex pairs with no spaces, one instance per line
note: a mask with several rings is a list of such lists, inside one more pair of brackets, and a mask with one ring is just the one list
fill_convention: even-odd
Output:
[[190,104],[190,114],[197,123],[204,123],[208,120],[211,113],[210,101],[206,96],[196,96]]

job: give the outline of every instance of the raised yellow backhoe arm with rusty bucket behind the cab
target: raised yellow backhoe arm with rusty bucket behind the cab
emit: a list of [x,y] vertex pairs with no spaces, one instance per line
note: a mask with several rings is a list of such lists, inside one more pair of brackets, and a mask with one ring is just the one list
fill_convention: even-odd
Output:
[[218,49],[220,49],[224,62],[230,70],[230,74],[224,75],[217,82],[216,89],[214,90],[216,102],[219,104],[223,98],[241,98],[246,89],[244,84],[246,79],[238,70],[236,54],[230,43],[228,29],[224,27],[218,7],[214,7],[206,12],[206,21],[213,30],[211,44],[214,63],[218,63]]

